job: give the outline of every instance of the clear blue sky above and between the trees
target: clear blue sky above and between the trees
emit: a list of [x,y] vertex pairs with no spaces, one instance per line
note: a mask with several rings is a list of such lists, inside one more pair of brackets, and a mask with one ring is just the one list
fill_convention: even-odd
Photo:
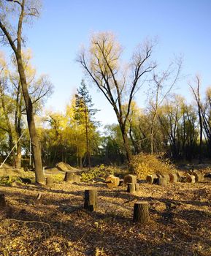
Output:
[[[126,49],[126,56],[146,37],[158,37],[154,54],[161,67],[169,64],[174,54],[183,54],[181,93],[188,97],[187,80],[202,75],[203,87],[211,85],[211,1],[210,0],[75,0],[43,1],[42,15],[25,30],[27,46],[34,53],[39,73],[50,76],[55,86],[47,108],[64,110],[80,86],[83,72],[74,59],[81,44],[88,45],[93,31],[113,31]],[[112,108],[103,96],[90,89],[98,119],[116,121]],[[142,97],[137,97],[142,102]]]

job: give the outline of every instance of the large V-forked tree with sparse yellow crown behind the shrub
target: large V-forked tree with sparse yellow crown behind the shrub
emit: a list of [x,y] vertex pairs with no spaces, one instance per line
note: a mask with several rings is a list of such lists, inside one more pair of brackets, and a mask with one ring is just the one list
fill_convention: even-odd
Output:
[[[101,32],[93,34],[88,50],[81,50],[77,56],[77,61],[115,111],[128,162],[131,160],[131,148],[126,124],[134,95],[145,81],[147,73],[156,67],[156,63],[150,60],[152,50],[153,44],[150,42],[139,45],[124,68],[120,60],[122,48],[115,36],[110,32]],[[123,113],[123,104],[127,105],[126,113]]]

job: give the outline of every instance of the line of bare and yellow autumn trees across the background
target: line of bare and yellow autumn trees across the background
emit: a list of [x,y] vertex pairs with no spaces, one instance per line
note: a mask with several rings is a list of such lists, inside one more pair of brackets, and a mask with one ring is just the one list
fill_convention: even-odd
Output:
[[[110,32],[93,34],[76,60],[88,82],[112,106],[118,124],[108,125],[103,134],[98,131],[94,120],[97,110],[83,81],[66,113],[47,113],[37,128],[37,113],[53,86],[46,76],[37,77],[31,66],[23,29],[39,16],[39,7],[40,1],[0,1],[1,43],[12,50],[11,63],[3,53],[0,56],[2,159],[12,152],[10,162],[20,167],[21,154],[28,157],[32,149],[36,180],[43,184],[42,164],[61,160],[90,168],[98,162],[130,162],[132,155],[141,151],[165,151],[172,159],[184,161],[197,158],[202,162],[210,157],[210,88],[202,98],[201,80],[196,76],[196,81],[189,83],[195,104],[185,102],[172,94],[181,80],[180,58],[160,70],[153,60],[156,42],[146,40],[134,50],[130,61],[123,62],[123,48]],[[150,85],[147,107],[140,109],[135,96],[142,101],[138,91],[146,84]]]

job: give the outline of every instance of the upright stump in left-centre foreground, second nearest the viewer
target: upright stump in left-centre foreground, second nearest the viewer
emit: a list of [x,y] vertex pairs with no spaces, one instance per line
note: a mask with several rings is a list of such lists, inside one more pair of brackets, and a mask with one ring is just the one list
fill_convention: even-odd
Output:
[[89,189],[84,192],[84,208],[88,211],[96,211],[98,209],[97,190]]

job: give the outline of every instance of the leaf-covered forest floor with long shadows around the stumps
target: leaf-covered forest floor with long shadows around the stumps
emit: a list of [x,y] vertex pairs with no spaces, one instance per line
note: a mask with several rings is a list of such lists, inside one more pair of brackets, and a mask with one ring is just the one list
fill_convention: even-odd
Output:
[[[99,210],[83,209],[85,189],[98,189]],[[40,200],[36,200],[39,192]],[[0,255],[211,255],[211,181],[139,184],[104,183],[0,186]],[[147,200],[150,220],[132,222],[134,203]]]

